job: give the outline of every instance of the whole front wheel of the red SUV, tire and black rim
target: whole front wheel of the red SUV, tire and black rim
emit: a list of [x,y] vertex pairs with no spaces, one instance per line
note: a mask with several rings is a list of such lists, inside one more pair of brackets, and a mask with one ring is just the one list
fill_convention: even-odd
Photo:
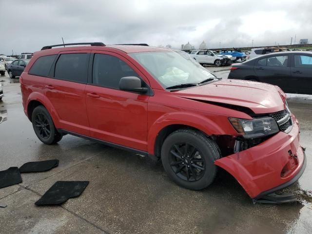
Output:
[[220,158],[216,143],[193,130],[177,130],[170,134],[161,148],[162,165],[178,185],[192,190],[208,187],[215,179]]

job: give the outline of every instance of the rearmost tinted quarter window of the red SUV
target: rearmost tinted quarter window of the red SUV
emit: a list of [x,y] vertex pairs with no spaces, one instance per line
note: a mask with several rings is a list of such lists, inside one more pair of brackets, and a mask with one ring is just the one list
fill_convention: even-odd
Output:
[[52,63],[56,57],[57,55],[48,55],[48,56],[40,57],[39,59],[35,61],[34,65],[30,68],[28,73],[30,75],[35,75],[35,76],[40,76],[40,77],[48,76]]

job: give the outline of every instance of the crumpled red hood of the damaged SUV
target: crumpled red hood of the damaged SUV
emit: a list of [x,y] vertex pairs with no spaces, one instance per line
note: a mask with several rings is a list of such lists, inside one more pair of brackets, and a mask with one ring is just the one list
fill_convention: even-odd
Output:
[[180,98],[230,104],[255,114],[284,110],[286,95],[277,86],[248,80],[219,80],[175,92]]

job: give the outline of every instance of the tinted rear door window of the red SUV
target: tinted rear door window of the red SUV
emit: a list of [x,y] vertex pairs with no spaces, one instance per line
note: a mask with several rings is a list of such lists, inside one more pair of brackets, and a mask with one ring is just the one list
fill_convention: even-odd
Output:
[[62,54],[55,66],[54,77],[87,83],[87,67],[90,54]]

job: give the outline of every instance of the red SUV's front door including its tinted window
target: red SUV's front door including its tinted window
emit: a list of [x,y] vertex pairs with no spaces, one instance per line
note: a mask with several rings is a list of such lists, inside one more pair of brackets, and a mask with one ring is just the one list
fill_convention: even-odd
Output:
[[119,90],[122,77],[143,74],[124,57],[95,52],[92,83],[85,89],[91,137],[114,144],[147,150],[148,95]]

